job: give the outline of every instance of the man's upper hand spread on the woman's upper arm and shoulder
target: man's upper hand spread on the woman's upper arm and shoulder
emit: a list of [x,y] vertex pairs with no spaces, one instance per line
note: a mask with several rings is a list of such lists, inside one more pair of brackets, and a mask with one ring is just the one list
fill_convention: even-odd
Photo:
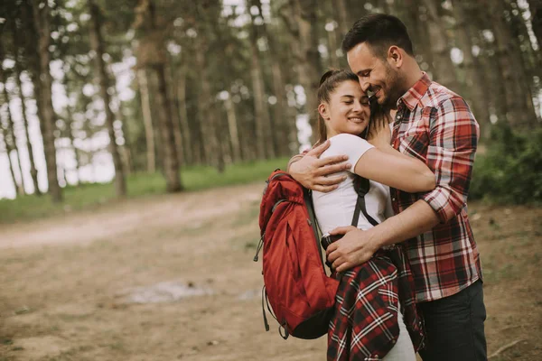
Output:
[[323,151],[330,146],[330,141],[326,141],[306,153],[303,158],[297,162],[291,163],[288,172],[309,190],[318,190],[329,192],[335,190],[346,176],[326,177],[327,175],[340,171],[347,171],[351,164],[346,163],[348,156],[337,155],[319,159]]

